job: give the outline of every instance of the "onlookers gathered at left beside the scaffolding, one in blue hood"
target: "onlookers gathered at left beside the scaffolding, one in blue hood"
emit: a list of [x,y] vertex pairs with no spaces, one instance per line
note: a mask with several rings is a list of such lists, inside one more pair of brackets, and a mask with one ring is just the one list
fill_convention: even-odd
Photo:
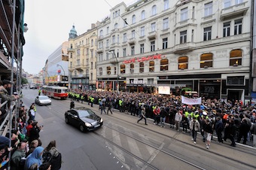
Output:
[[[1,107],[2,120],[11,109],[11,102],[19,99],[19,96],[11,95],[10,88],[10,80],[0,80],[0,98],[2,103],[8,102]],[[40,131],[43,126],[35,120],[35,103],[27,109],[20,100],[19,105],[17,102],[14,105],[14,112],[15,108],[18,113],[12,121],[13,129],[6,135],[0,135],[0,170],[9,167],[11,170],[59,170],[62,155],[56,149],[56,141],[42,147]]]

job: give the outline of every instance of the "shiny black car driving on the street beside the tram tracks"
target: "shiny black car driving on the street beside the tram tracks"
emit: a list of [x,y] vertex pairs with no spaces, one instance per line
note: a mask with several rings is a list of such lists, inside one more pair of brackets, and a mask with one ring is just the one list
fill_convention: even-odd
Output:
[[72,108],[66,111],[65,120],[66,123],[78,127],[81,132],[98,129],[103,124],[102,118],[89,108]]

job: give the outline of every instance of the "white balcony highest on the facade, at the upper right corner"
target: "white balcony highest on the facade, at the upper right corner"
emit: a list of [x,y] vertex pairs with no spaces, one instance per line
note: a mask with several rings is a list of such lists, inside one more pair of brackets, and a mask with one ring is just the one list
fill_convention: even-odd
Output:
[[221,20],[229,20],[231,18],[243,16],[248,11],[248,8],[248,1],[242,2],[238,5],[233,5],[228,8],[224,8],[221,10]]

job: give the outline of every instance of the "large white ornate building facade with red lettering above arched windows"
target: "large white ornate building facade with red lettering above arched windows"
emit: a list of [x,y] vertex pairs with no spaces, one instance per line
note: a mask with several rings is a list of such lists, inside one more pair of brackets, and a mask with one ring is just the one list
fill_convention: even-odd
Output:
[[120,90],[167,85],[176,94],[189,87],[207,98],[245,101],[250,25],[251,1],[120,3],[98,27],[98,88],[115,90],[118,74]]

